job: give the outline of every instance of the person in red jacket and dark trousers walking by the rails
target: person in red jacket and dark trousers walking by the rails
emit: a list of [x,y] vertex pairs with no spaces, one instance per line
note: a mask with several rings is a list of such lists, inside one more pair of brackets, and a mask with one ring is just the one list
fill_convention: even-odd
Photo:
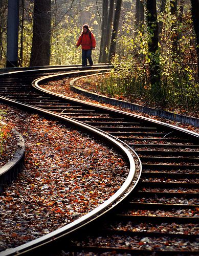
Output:
[[89,25],[84,24],[82,27],[82,33],[76,44],[76,48],[81,45],[82,49],[82,66],[87,66],[87,60],[89,60],[89,65],[93,66],[92,60],[92,50],[95,50],[96,40],[93,33],[89,29]]

